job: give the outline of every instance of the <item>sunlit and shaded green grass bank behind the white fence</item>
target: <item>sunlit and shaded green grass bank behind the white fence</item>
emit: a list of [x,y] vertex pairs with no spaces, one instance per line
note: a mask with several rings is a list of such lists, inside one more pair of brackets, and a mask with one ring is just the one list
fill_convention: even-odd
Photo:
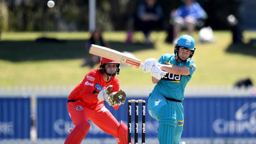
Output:
[[[123,31],[105,32],[110,47],[132,52],[145,60],[173,53],[173,45],[165,43],[164,32],[152,33],[154,45],[125,44]],[[231,44],[230,31],[215,31],[214,43],[201,44],[195,33],[196,51],[193,60],[197,64],[188,85],[234,85],[240,78],[250,77],[256,84],[256,44]],[[57,42],[35,42],[38,37],[56,38]],[[256,32],[246,31],[245,42],[256,38]],[[87,32],[9,32],[1,34],[0,86],[22,85],[77,85],[91,69],[82,67],[86,57]],[[136,39],[143,39],[140,33]],[[96,68],[96,66],[95,66]],[[150,74],[141,68],[121,67],[119,80],[122,86],[150,86]]]

